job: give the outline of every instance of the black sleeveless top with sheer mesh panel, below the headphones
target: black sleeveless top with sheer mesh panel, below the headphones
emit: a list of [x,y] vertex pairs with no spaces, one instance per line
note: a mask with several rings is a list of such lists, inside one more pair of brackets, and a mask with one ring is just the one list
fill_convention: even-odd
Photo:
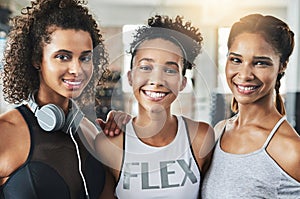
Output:
[[[31,148],[27,161],[11,174],[1,187],[4,199],[81,199],[85,198],[79,174],[75,145],[64,132],[42,130],[34,114],[25,106],[17,109],[30,130]],[[90,199],[98,199],[103,190],[103,165],[84,147],[78,134],[81,164]]]

